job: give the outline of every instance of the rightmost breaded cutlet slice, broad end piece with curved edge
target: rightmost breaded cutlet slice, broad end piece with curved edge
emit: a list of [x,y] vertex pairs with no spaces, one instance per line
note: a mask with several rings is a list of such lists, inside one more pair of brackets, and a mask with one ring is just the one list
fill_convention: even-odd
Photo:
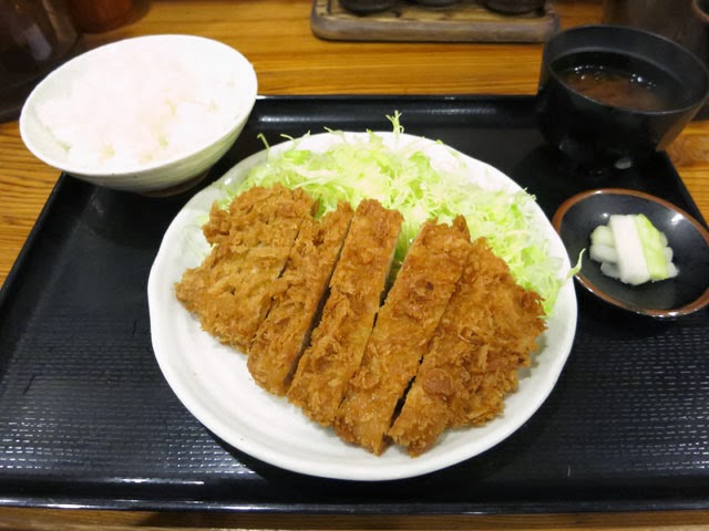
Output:
[[480,239],[389,436],[418,456],[446,428],[499,415],[544,331],[541,298]]

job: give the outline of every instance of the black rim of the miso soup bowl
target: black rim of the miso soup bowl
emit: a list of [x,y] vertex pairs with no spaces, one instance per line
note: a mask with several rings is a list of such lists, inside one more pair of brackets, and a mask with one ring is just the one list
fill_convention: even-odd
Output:
[[[627,107],[627,106],[623,106],[623,105],[610,105],[607,103],[603,103],[599,102],[598,100],[595,100],[590,96],[587,96],[586,94],[578,92],[577,90],[573,88],[572,86],[569,86],[567,83],[564,82],[564,80],[561,77],[561,75],[558,74],[558,72],[552,67],[552,63],[553,61],[549,61],[548,54],[549,49],[554,45],[554,43],[563,38],[564,35],[571,35],[571,34],[575,34],[575,33],[584,33],[584,32],[589,32],[589,31],[597,31],[597,32],[614,32],[614,33],[626,33],[626,34],[636,34],[636,35],[643,35],[643,39],[650,39],[650,40],[656,40],[658,42],[664,42],[665,45],[668,45],[670,48],[676,49],[678,52],[686,54],[688,58],[691,58],[691,60],[696,63],[696,66],[698,69],[699,72],[703,73],[703,79],[705,79],[705,93],[703,96],[700,97],[699,100],[692,100],[691,102],[687,103],[686,105],[682,106],[672,106],[670,108],[665,108],[665,110],[657,110],[657,111],[645,111],[645,110],[637,110],[637,108],[633,108],[633,107]],[[583,48],[580,48],[578,51],[583,51],[583,52],[589,52],[589,51],[594,51],[596,49],[603,48],[603,43],[595,43],[595,44],[587,44],[584,45]],[[610,51],[610,50],[608,50]],[[565,55],[566,53],[571,54],[571,53],[575,53],[574,51],[568,51],[568,52],[563,52],[562,54],[559,54],[559,56]],[[620,53],[626,53],[626,52],[620,52]],[[630,54],[637,59],[640,59],[645,62],[650,62],[651,64],[660,67],[658,65],[657,62],[653,61],[651,59],[649,59],[648,56],[641,56],[638,55],[637,53]],[[546,64],[546,69],[548,71],[548,74],[551,76],[553,76],[557,83],[559,83],[562,86],[564,86],[567,91],[569,91],[572,94],[574,94],[577,97],[583,98],[585,102],[599,106],[599,107],[608,107],[608,108],[614,108],[614,110],[618,110],[625,113],[631,113],[631,114],[644,114],[644,115],[651,115],[651,116],[662,116],[666,114],[684,114],[687,113],[689,111],[691,111],[692,108],[697,108],[699,110],[708,100],[709,100],[709,67],[705,64],[703,61],[701,61],[699,59],[699,56],[697,56],[697,54],[695,52],[692,52],[691,50],[682,46],[681,44],[672,41],[671,39],[661,35],[659,33],[655,33],[653,31],[649,30],[645,30],[641,28],[634,28],[634,27],[629,27],[629,25],[621,25],[621,24],[583,24],[583,25],[576,25],[573,28],[568,28],[564,31],[561,31],[554,35],[552,35],[545,43],[544,43],[544,48],[542,50],[542,64]]]

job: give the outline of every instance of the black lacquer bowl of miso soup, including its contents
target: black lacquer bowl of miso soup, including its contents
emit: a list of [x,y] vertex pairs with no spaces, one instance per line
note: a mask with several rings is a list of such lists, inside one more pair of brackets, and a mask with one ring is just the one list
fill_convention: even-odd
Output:
[[579,167],[623,169],[664,150],[708,95],[707,67],[676,42],[630,27],[577,27],[545,44],[537,124]]

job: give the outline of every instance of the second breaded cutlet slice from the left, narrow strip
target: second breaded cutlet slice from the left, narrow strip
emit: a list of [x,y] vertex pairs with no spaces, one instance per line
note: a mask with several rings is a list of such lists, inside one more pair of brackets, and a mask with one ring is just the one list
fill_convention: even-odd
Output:
[[306,218],[282,275],[276,281],[270,311],[258,327],[247,366],[258,385],[282,396],[308,342],[332,270],[352,219],[341,202],[321,220]]

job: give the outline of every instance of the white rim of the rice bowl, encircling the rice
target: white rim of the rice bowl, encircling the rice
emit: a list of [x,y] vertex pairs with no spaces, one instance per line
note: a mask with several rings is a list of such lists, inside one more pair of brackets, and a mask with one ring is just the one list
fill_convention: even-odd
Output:
[[[137,41],[155,41],[155,42],[161,42],[161,41],[192,41],[192,42],[201,42],[205,45],[209,45],[209,46],[215,46],[215,48],[222,48],[226,53],[232,54],[235,60],[237,61],[237,70],[240,74],[239,80],[243,81],[245,84],[248,85],[248,98],[245,98],[245,101],[247,102],[244,105],[239,105],[236,108],[236,115],[234,117],[233,121],[230,121],[227,126],[223,129],[220,129],[216,136],[210,136],[207,139],[204,139],[203,142],[196,144],[193,148],[191,148],[188,152],[179,154],[179,155],[173,155],[168,158],[164,158],[161,160],[153,160],[150,164],[145,164],[145,165],[141,165],[141,166],[127,166],[124,168],[119,168],[119,169],[111,169],[111,168],[90,168],[90,167],[85,167],[85,166],[81,166],[81,165],[76,165],[76,164],[68,164],[64,160],[58,160],[55,157],[52,157],[50,155],[48,155],[47,153],[44,153],[43,149],[40,149],[38,147],[38,145],[33,142],[32,135],[29,133],[28,131],[28,122],[31,119],[35,119],[34,117],[31,117],[31,113],[33,110],[33,106],[37,104],[37,100],[39,98],[39,94],[41,94],[41,92],[43,91],[43,87],[47,86],[47,84],[53,82],[56,77],[60,77],[62,75],[65,75],[65,72],[69,71],[71,67],[75,67],[75,64],[78,63],[82,63],[85,61],[90,61],[92,58],[94,58],[95,55],[100,55],[102,53],[105,53],[106,50],[109,49],[113,49],[113,48],[119,48],[119,46],[123,46],[126,45],[129,43],[133,43],[133,42],[137,42]],[[81,177],[86,177],[86,178],[102,178],[102,179],[121,179],[121,178],[130,178],[136,175],[142,175],[145,173],[150,173],[156,169],[161,169],[167,166],[173,166],[176,164],[179,164],[181,162],[191,158],[197,154],[199,154],[201,152],[204,152],[205,149],[208,149],[210,146],[215,145],[215,144],[219,144],[222,142],[224,142],[225,139],[227,139],[234,132],[234,128],[238,126],[238,124],[240,124],[242,122],[245,122],[248,118],[248,115],[251,113],[254,105],[256,104],[256,98],[258,96],[258,79],[256,76],[256,71],[254,69],[254,65],[250,63],[250,61],[244,55],[242,54],[238,50],[236,50],[235,48],[222,42],[222,41],[217,41],[215,39],[210,39],[210,38],[206,38],[206,37],[201,37],[201,35],[193,35],[193,34],[187,34],[187,33],[156,33],[156,34],[150,34],[150,35],[137,35],[137,37],[130,37],[126,39],[121,39],[117,41],[113,41],[113,42],[109,42],[106,44],[102,44],[99,45],[94,49],[88,50],[84,53],[80,53],[78,55],[75,55],[74,58],[72,58],[71,60],[66,61],[65,63],[61,64],[60,66],[58,66],[56,69],[54,69],[52,72],[50,72],[30,93],[30,95],[27,97],[23,106],[22,106],[22,111],[20,113],[20,118],[19,118],[19,128],[20,128],[20,137],[22,138],[25,147],[40,160],[42,160],[43,163],[48,164],[49,166],[52,166],[56,169],[60,169],[66,174],[70,175],[75,175],[75,176],[81,176]],[[43,125],[40,124],[40,126],[43,127]],[[106,185],[110,186],[110,185]]]

